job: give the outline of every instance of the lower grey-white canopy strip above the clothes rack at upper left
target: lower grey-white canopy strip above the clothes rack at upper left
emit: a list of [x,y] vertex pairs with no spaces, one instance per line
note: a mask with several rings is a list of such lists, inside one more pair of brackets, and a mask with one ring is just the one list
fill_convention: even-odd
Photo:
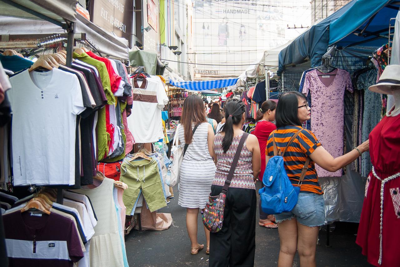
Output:
[[[114,36],[76,14],[75,33],[86,33],[97,51],[117,59],[128,59],[128,40]],[[0,16],[0,34],[58,34],[64,30],[51,22]]]

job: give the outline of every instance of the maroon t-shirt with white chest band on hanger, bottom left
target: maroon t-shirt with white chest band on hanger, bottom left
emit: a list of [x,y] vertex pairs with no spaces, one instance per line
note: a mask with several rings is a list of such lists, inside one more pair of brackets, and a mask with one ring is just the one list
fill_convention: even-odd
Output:
[[12,212],[3,216],[10,267],[72,267],[83,257],[72,220],[56,213]]

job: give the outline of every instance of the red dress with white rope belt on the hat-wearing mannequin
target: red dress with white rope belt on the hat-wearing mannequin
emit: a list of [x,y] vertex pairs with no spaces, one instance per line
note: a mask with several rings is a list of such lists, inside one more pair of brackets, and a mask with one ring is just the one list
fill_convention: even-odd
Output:
[[383,117],[369,140],[374,171],[367,178],[356,243],[372,265],[400,266],[400,115]]

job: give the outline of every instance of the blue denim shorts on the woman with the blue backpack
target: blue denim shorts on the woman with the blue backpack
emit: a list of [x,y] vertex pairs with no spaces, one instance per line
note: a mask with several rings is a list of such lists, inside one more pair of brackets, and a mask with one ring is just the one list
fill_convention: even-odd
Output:
[[276,214],[276,223],[284,220],[296,220],[302,225],[309,227],[325,224],[325,202],[324,195],[300,192],[297,204],[290,212]]

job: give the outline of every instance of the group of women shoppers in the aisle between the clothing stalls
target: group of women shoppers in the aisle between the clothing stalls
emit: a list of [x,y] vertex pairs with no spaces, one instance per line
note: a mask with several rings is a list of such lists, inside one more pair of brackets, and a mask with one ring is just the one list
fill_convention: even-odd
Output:
[[[303,162],[310,158],[308,171],[300,184],[298,202],[290,212],[281,214],[265,214],[260,207],[258,225],[278,227],[279,267],[291,267],[296,251],[300,266],[316,266],[318,231],[324,224],[325,213],[315,164],[335,172],[368,151],[369,141],[333,158],[312,131],[302,128],[303,122],[310,119],[310,107],[304,94],[291,91],[283,93],[278,104],[270,100],[262,103],[257,111],[254,135],[248,135],[239,148],[245,112],[244,103],[232,99],[225,102],[223,116],[218,103],[214,103],[206,117],[207,107],[200,97],[190,95],[184,101],[183,127],[177,134],[181,145],[190,145],[180,168],[178,204],[187,209],[190,253],[197,254],[204,248],[197,241],[199,209],[204,209],[210,193],[212,196],[220,194],[238,150],[240,157],[226,193],[222,229],[210,233],[204,228],[206,253],[210,254],[209,266],[254,265],[256,180],[258,178],[262,183],[268,160],[274,156],[274,139],[278,149],[283,151],[292,136],[302,129],[284,154],[284,168],[293,186],[298,186]],[[208,122],[208,119],[212,121]]]

